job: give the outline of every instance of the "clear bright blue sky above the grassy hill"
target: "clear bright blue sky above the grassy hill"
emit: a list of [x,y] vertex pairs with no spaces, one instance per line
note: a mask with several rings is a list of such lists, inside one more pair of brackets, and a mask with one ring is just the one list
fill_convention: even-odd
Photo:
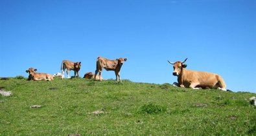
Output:
[[121,79],[173,83],[167,60],[188,57],[187,69],[218,73],[227,89],[256,93],[256,1],[1,0],[0,49],[0,77],[27,77],[30,67],[61,72],[63,59],[81,61],[82,77],[102,56],[128,59]]

